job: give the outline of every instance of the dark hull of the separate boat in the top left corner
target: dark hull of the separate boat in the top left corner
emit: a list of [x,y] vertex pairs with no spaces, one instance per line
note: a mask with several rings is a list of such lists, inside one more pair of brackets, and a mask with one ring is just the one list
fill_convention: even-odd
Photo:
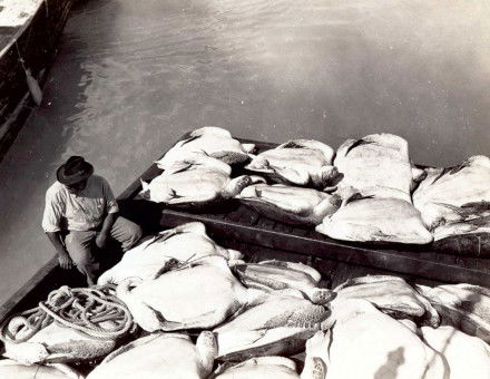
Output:
[[0,159],[36,103],[26,69],[42,86],[74,1],[45,0],[24,25],[0,28]]

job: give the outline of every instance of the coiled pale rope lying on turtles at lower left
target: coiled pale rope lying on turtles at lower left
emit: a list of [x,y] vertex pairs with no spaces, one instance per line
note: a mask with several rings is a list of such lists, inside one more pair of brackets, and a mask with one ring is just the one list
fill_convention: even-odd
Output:
[[114,293],[114,285],[87,289],[60,286],[38,307],[6,320],[0,325],[0,340],[26,342],[53,321],[95,339],[122,337],[134,327],[133,317]]

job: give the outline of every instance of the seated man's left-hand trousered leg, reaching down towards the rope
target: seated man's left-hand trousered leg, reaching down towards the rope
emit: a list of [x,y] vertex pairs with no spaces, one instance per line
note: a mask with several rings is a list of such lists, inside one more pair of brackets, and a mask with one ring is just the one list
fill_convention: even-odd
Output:
[[96,232],[70,231],[65,239],[68,254],[78,271],[86,276],[88,285],[96,284],[96,271],[99,269],[92,253],[95,237]]

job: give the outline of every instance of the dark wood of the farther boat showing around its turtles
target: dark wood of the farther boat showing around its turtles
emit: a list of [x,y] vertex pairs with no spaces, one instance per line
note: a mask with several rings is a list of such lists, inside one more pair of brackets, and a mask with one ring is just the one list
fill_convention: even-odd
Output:
[[[258,152],[275,146],[248,139],[242,142],[256,144]],[[141,178],[150,181],[160,173],[161,169],[154,164]],[[268,220],[237,202],[229,202],[207,212],[189,212],[143,200],[131,201],[140,190],[138,178],[121,197],[129,201],[129,216],[139,213],[140,217],[135,221],[147,223],[153,229],[167,229],[185,222],[200,221],[206,224],[209,235],[217,241],[228,242],[228,245],[229,242],[251,244],[276,251],[277,254],[282,252],[311,256],[324,263],[333,261],[336,264],[363,266],[373,272],[391,272],[444,283],[464,282],[487,286],[490,284],[489,259],[447,254],[433,251],[430,246],[380,246],[336,241],[311,227],[296,227]],[[332,266],[332,262],[327,266]]]

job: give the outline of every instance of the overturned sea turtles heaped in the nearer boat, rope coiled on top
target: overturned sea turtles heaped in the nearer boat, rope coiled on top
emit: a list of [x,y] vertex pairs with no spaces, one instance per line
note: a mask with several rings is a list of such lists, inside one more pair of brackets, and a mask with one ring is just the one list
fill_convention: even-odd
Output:
[[50,295],[51,323],[32,330],[27,311],[1,325],[0,377],[489,378],[490,290],[325,282],[302,263],[246,262],[183,224],[128,251],[91,297]]

